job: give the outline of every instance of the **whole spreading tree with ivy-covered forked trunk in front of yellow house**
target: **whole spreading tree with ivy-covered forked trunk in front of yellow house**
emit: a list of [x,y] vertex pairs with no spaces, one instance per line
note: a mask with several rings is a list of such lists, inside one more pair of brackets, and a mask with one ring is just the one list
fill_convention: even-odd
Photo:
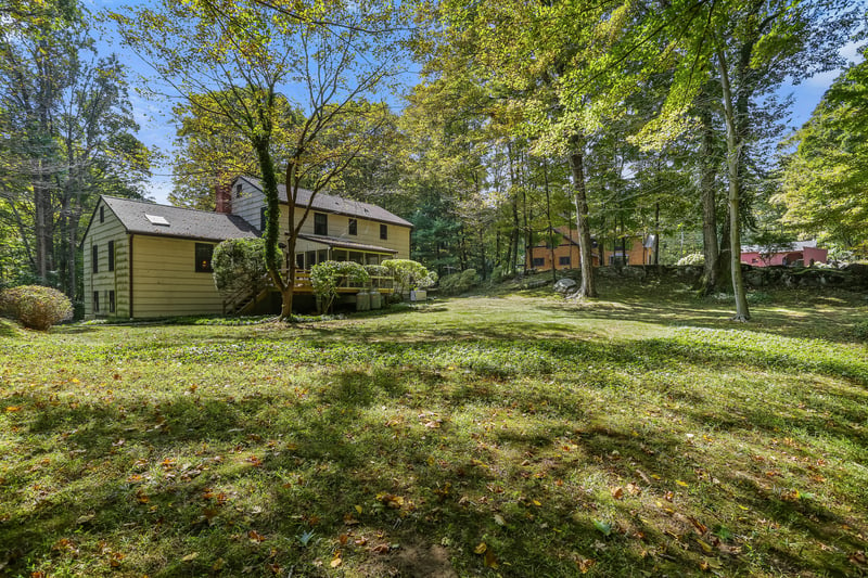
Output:
[[[289,196],[285,243],[294,255],[317,194],[340,180],[388,117],[384,103],[368,98],[375,98],[397,66],[397,16],[379,2],[342,0],[162,0],[132,16],[113,14],[125,40],[173,91],[221,117],[250,143],[266,197],[266,264],[282,295],[282,319],[292,316],[295,259],[281,271],[278,179]],[[278,167],[280,89],[290,82],[299,89],[304,118]],[[296,215],[302,187],[312,194]]]

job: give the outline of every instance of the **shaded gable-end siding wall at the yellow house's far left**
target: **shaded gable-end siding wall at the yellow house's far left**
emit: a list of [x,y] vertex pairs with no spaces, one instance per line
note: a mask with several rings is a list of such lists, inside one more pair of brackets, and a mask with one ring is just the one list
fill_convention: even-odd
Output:
[[[100,213],[104,216],[100,222]],[[108,242],[114,242],[114,270],[108,270]],[[99,270],[93,273],[93,246]],[[102,201],[81,244],[84,253],[85,317],[130,317],[129,314],[129,239],[120,220]],[[115,310],[108,310],[108,292],[115,293]],[[100,310],[93,310],[93,292],[100,294]]]

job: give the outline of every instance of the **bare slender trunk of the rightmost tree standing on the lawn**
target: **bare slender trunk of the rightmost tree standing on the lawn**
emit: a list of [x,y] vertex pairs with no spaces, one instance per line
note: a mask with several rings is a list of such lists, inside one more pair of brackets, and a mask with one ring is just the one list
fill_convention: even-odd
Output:
[[744,291],[744,279],[741,275],[741,230],[739,227],[739,193],[740,183],[740,156],[741,156],[741,134],[736,127],[736,112],[732,107],[732,92],[729,85],[729,73],[727,70],[726,55],[723,48],[717,48],[717,66],[720,73],[720,88],[724,98],[724,117],[726,118],[726,150],[727,150],[727,172],[729,176],[729,256],[730,268],[732,271],[732,292],[736,298],[736,314],[733,321],[749,321],[751,312],[748,308],[748,295]]

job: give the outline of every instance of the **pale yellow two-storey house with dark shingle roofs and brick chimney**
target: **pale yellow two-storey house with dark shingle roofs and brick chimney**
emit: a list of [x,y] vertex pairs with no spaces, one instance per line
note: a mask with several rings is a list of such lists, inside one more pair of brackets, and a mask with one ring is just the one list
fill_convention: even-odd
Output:
[[[296,219],[310,198],[309,191],[299,193]],[[283,187],[279,194],[285,237],[289,205]],[[218,188],[213,213],[101,196],[81,242],[85,317],[221,313],[224,299],[210,267],[214,247],[227,239],[259,236],[264,224],[265,195],[259,181],[246,177]],[[367,265],[406,259],[411,229],[411,223],[376,205],[320,193],[294,258],[301,269],[327,259]]]

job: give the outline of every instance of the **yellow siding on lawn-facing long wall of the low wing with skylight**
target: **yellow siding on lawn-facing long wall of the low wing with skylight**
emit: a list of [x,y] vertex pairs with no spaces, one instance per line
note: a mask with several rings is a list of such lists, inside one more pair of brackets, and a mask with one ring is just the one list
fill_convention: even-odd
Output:
[[214,286],[214,275],[195,270],[196,243],[201,241],[136,235],[132,245],[136,318],[222,312],[222,298]]

